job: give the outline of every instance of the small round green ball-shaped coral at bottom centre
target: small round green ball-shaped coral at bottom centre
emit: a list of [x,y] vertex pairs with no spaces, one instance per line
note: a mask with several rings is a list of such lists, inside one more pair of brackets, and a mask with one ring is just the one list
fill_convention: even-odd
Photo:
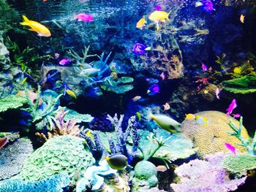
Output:
[[132,191],[157,190],[157,167],[149,161],[140,161],[135,166],[135,177],[132,178]]

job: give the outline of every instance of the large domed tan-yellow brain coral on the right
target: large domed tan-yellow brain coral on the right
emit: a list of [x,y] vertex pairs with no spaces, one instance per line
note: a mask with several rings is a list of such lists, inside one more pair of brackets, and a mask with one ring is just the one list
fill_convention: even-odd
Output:
[[[195,115],[207,118],[208,125],[203,126],[203,124],[195,123],[195,120],[184,120],[181,123],[181,130],[192,139],[195,147],[198,147],[199,155],[227,151],[224,145],[225,142],[235,145],[241,152],[246,151],[244,147],[236,145],[236,143],[240,143],[240,141],[229,134],[229,132],[233,132],[233,130],[227,123],[229,120],[233,120],[236,126],[238,126],[238,120],[218,111],[197,112]],[[249,135],[244,126],[242,127],[241,135],[244,139],[249,139]]]

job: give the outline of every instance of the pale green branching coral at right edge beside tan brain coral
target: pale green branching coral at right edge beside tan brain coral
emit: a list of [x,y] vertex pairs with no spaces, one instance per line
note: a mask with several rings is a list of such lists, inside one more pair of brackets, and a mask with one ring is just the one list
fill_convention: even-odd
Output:
[[233,120],[230,120],[230,122],[228,122],[228,125],[230,126],[230,128],[233,129],[233,132],[230,132],[230,135],[236,137],[241,142],[238,145],[246,147],[246,150],[249,154],[256,155],[256,131],[252,142],[248,138],[244,138],[243,134],[241,133],[243,126],[243,117],[240,118],[239,126],[236,126]]

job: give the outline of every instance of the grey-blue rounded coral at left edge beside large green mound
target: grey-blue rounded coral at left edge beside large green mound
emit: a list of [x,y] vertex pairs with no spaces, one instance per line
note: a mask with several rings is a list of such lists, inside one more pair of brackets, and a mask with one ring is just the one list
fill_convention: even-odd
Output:
[[0,150],[0,180],[5,180],[18,174],[32,152],[33,146],[29,139],[18,139],[4,146]]

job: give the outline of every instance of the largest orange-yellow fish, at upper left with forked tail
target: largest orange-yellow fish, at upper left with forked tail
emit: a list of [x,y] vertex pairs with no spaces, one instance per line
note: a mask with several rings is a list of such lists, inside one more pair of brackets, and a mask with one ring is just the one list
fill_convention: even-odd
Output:
[[35,31],[37,32],[38,36],[42,37],[50,37],[50,30],[46,27],[43,26],[42,24],[38,23],[37,21],[34,20],[29,20],[25,15],[22,15],[23,17],[23,22],[20,23],[20,25],[23,26],[29,26],[29,31]]

